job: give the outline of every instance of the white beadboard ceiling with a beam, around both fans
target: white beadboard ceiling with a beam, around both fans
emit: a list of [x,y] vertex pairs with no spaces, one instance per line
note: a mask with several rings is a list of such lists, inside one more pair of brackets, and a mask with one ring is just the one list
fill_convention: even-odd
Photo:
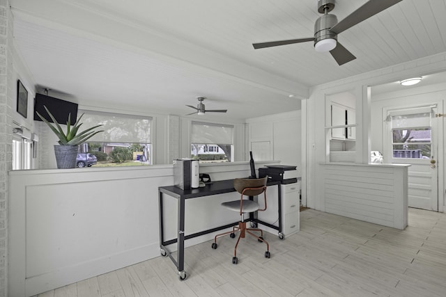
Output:
[[[342,66],[313,42],[252,47],[312,37],[317,0],[11,2],[28,88],[147,113],[191,113],[197,96],[228,109],[204,118],[291,111],[312,86],[446,51],[446,0],[403,0],[340,33],[357,57]],[[337,0],[332,14],[344,19],[365,2]]]

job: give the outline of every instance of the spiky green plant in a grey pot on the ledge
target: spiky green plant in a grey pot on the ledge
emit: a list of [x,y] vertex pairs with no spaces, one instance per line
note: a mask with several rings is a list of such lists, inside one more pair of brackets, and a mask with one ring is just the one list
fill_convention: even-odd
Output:
[[38,117],[43,120],[43,122],[45,122],[48,127],[52,129],[54,134],[56,134],[56,136],[59,138],[59,145],[54,145],[54,154],[56,154],[57,168],[75,168],[77,150],[79,148],[79,145],[87,141],[95,134],[102,132],[103,130],[93,130],[102,125],[96,125],[89,129],[85,129],[84,131],[79,131],[79,128],[82,126],[82,122],[80,122],[80,120],[82,119],[82,116],[84,116],[84,113],[82,113],[82,115],[77,119],[75,125],[70,125],[71,114],[68,114],[67,129],[64,132],[61,128],[61,125],[59,125],[52,113],[50,113],[47,109],[47,106],[43,107],[45,107],[45,111],[47,111],[49,117],[54,122],[54,125],[52,125],[52,123],[50,123],[46,118],[44,118],[42,115],[40,115],[40,113],[36,111]]

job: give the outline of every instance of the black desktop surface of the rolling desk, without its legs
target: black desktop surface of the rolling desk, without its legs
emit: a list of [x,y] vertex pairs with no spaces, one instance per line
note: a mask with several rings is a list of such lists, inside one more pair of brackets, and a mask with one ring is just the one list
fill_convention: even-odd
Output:
[[[192,188],[190,190],[182,190],[177,186],[160,186],[158,191],[166,193],[167,195],[174,196],[176,198],[183,197],[184,199],[197,198],[208,195],[217,195],[223,193],[235,192],[236,189],[233,185],[233,179],[219,180],[216,182],[210,182],[203,188]],[[280,184],[280,182],[268,182],[267,186]]]

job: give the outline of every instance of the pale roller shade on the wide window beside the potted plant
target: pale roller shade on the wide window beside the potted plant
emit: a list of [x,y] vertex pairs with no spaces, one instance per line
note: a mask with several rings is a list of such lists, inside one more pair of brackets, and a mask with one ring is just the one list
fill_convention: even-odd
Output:
[[102,113],[99,111],[80,111],[79,113],[84,113],[81,120],[83,124],[79,130],[83,131],[95,125],[104,125],[95,129],[104,131],[96,134],[89,141],[106,143],[150,143],[152,120],[150,117]]

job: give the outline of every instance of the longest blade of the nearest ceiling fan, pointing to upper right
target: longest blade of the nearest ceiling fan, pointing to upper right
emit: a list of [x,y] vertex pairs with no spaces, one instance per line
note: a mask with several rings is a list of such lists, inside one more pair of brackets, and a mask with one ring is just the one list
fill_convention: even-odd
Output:
[[339,34],[347,29],[359,24],[360,22],[373,17],[377,13],[394,6],[402,0],[370,0],[367,1],[363,6],[357,8],[353,13],[342,19],[340,22],[332,26],[330,31]]

